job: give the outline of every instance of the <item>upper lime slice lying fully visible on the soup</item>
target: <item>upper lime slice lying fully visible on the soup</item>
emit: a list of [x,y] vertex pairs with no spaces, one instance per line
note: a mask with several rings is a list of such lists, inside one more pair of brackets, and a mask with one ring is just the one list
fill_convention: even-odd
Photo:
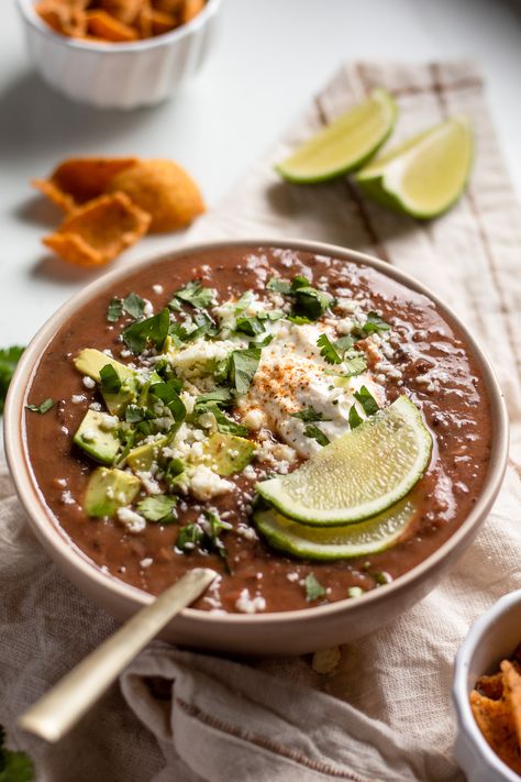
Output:
[[432,440],[420,410],[400,396],[301,467],[256,485],[281,514],[311,526],[361,521],[395,505],[422,476]]

